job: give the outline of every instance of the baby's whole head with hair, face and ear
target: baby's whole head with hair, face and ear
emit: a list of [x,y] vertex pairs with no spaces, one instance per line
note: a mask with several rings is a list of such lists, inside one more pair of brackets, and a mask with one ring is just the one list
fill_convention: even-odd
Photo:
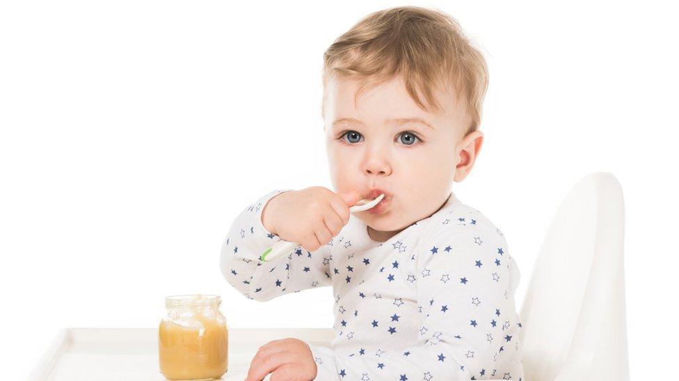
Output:
[[361,19],[323,58],[335,190],[385,193],[381,207],[356,214],[374,230],[429,217],[479,155],[484,57],[449,15],[406,6]]

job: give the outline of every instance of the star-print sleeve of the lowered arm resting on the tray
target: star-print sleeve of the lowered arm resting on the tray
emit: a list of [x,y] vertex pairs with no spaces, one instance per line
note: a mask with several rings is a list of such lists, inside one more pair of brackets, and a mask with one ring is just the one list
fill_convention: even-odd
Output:
[[418,243],[417,341],[352,353],[310,346],[317,380],[519,379],[516,263],[495,226],[448,217]]

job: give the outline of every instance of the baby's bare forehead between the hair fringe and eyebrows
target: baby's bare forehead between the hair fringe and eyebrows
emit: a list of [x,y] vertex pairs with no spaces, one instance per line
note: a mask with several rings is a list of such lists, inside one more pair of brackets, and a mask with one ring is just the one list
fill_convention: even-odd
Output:
[[[440,112],[423,110],[410,96],[406,83],[401,76],[378,85],[366,87],[355,98],[360,80],[353,78],[330,77],[326,85],[326,100],[323,105],[323,119],[332,122],[338,118],[355,119],[393,119],[422,118],[424,120],[443,120],[454,118],[458,104],[454,91],[449,86],[434,90],[441,105]],[[442,90],[441,87],[444,89]],[[422,93],[420,99],[425,101]]]

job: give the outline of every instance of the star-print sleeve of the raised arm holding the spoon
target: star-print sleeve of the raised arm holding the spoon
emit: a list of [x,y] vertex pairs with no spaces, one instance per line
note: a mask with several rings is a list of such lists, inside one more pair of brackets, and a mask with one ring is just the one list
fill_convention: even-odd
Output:
[[328,270],[330,244],[313,252],[300,246],[287,257],[271,262],[259,260],[266,248],[281,240],[264,228],[262,210],[273,196],[288,190],[291,189],[269,192],[249,205],[234,220],[223,242],[221,272],[233,287],[250,299],[271,300],[302,289],[332,284]]

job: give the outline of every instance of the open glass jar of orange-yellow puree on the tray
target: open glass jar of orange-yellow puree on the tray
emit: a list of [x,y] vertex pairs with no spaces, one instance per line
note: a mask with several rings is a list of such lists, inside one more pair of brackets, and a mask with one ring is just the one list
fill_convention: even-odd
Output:
[[218,295],[175,295],[158,330],[160,371],[169,380],[214,380],[229,365],[229,330]]

